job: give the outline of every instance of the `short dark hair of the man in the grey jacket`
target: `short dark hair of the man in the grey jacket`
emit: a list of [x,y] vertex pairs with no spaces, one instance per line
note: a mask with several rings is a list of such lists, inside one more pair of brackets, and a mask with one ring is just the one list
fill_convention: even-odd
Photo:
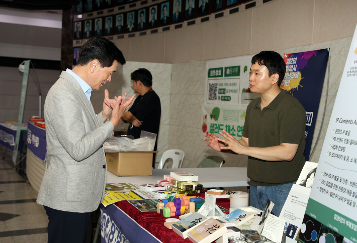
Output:
[[102,67],[110,67],[114,60],[124,65],[126,63],[123,53],[107,38],[92,37],[80,48],[77,61],[78,66],[84,66],[93,60],[98,60]]

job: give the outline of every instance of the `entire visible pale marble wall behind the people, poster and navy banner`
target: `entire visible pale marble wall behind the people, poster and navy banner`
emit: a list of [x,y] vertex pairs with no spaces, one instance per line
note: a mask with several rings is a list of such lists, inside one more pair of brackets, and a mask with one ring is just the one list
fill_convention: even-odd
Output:
[[[278,50],[281,55],[331,48],[330,79],[327,91],[327,72],[317,114],[317,122],[313,137],[313,146],[316,150],[310,161],[318,162],[321,147],[326,135],[327,126],[333,109],[336,93],[341,80],[344,64],[352,37],[333,41],[305,45],[294,48]],[[199,163],[210,155],[220,155],[226,163],[224,167],[246,166],[247,156],[218,154],[211,148],[206,147],[202,133],[203,113],[202,104],[205,100],[205,73],[206,61],[162,64],[145,62],[127,62],[124,67],[119,67],[113,74],[112,81],[104,88],[109,89],[110,97],[114,95],[129,95],[134,93],[130,82],[130,73],[137,68],[144,67],[153,75],[153,89],[161,99],[161,121],[158,135],[158,155],[156,156],[156,167],[161,155],[168,149],[181,149],[185,152],[185,160],[182,168],[197,167]],[[327,98],[325,118],[319,139],[317,135],[321,126],[322,115]],[[104,89],[92,92],[92,102],[97,112],[102,110]],[[127,125],[120,123],[116,130],[126,131]],[[313,147],[312,147],[313,148]],[[170,163],[166,163],[170,166]]]

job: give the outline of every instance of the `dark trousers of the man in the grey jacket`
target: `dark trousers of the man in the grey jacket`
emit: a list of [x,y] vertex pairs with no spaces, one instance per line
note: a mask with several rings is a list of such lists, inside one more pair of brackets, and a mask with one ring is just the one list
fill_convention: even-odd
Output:
[[65,212],[44,206],[49,222],[48,243],[84,243],[92,212]]

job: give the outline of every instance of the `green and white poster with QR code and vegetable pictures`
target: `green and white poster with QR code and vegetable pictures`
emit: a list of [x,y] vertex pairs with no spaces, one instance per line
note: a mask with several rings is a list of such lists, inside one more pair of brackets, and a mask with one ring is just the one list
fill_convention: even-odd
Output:
[[249,69],[253,56],[225,58],[206,64],[206,101],[202,105],[203,133],[226,130],[241,139],[247,105],[259,94],[250,92]]

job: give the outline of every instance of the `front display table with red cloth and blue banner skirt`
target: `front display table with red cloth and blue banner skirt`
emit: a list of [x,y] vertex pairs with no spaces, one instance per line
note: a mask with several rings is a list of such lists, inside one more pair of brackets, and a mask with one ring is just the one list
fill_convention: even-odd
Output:
[[[198,196],[204,198],[205,194]],[[229,209],[228,198],[217,199],[216,204]],[[166,228],[163,225],[165,219],[157,212],[141,212],[128,201],[120,201],[106,208],[101,204],[101,242],[191,242],[189,238],[183,239],[172,229]]]

